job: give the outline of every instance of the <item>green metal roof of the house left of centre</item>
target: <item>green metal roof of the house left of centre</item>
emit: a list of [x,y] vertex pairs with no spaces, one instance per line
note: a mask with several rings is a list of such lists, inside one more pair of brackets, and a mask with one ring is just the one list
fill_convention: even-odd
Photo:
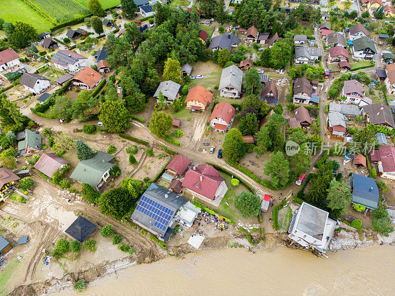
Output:
[[114,155],[97,151],[95,157],[80,161],[70,178],[96,188],[103,174],[114,166],[109,163],[114,157]]

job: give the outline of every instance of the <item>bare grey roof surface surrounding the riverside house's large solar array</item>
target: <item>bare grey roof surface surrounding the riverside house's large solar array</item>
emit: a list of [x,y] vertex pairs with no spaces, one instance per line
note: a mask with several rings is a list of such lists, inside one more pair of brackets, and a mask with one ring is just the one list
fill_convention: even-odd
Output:
[[[167,196],[167,197],[166,197]],[[143,203],[142,198],[149,198],[158,204],[170,209],[173,211],[173,216],[174,213],[184,204],[188,202],[188,200],[174,192],[169,191],[168,189],[156,184],[156,183],[151,183],[151,185],[147,188],[147,190],[144,191],[142,197],[138,200],[138,205],[140,203]],[[137,207],[136,207],[137,208]],[[169,222],[166,222],[166,227],[165,229],[158,229],[157,227],[154,226],[156,220],[141,213],[138,210],[134,210],[133,214],[130,216],[130,218],[143,226],[145,226],[147,229],[150,229],[161,236],[164,236],[169,224],[171,224],[171,217]]]

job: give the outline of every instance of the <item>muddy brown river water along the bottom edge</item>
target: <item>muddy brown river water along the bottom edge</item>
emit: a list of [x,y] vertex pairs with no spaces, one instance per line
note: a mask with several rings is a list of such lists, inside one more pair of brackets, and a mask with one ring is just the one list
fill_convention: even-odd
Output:
[[56,296],[394,296],[395,248],[365,247],[329,253],[278,247],[204,250],[118,271],[82,293]]

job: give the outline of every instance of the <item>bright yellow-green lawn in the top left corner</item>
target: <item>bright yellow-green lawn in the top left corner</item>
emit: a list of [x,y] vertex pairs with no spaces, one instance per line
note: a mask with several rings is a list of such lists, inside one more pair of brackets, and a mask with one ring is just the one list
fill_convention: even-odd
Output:
[[49,31],[53,25],[42,18],[36,11],[30,8],[22,0],[6,0],[0,2],[0,17],[8,22],[16,21],[31,24],[38,33]]

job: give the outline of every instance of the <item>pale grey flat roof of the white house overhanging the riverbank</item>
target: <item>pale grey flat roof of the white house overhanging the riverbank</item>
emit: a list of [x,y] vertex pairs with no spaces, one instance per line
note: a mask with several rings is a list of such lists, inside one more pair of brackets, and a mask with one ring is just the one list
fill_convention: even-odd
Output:
[[296,229],[322,240],[322,235],[328,218],[328,212],[305,202],[302,204],[302,207],[299,208],[299,211],[300,216],[297,224],[295,225]]

